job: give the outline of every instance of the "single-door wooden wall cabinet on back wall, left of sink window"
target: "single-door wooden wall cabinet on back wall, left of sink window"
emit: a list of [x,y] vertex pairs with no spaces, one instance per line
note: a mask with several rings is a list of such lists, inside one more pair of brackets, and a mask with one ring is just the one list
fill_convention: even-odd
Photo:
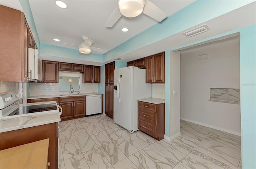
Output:
[[43,83],[59,83],[58,62],[43,61]]

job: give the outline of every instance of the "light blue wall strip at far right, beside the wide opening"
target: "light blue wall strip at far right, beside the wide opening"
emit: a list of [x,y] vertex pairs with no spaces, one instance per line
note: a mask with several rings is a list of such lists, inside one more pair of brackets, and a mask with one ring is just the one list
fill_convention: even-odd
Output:
[[256,25],[240,30],[242,168],[256,169]]

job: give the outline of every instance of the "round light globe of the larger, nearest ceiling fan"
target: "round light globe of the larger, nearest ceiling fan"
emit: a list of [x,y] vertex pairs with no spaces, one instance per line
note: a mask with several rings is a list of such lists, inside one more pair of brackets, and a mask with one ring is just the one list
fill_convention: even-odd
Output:
[[119,0],[118,8],[123,16],[133,18],[139,16],[145,6],[145,0]]

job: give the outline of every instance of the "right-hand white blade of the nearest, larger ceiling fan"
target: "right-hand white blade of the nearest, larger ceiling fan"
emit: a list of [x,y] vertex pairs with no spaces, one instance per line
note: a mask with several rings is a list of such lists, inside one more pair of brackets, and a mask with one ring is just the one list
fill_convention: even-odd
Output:
[[160,8],[158,8],[155,4],[153,4],[149,0],[145,0],[143,13],[157,20],[158,22],[161,22],[167,17],[167,14],[164,13],[164,11],[160,10]]

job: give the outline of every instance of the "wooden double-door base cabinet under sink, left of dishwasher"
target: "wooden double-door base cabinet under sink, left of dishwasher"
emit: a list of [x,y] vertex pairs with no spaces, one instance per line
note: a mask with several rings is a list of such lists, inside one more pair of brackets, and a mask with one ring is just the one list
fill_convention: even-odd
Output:
[[62,107],[61,121],[81,118],[86,115],[85,96],[60,97],[59,105]]

